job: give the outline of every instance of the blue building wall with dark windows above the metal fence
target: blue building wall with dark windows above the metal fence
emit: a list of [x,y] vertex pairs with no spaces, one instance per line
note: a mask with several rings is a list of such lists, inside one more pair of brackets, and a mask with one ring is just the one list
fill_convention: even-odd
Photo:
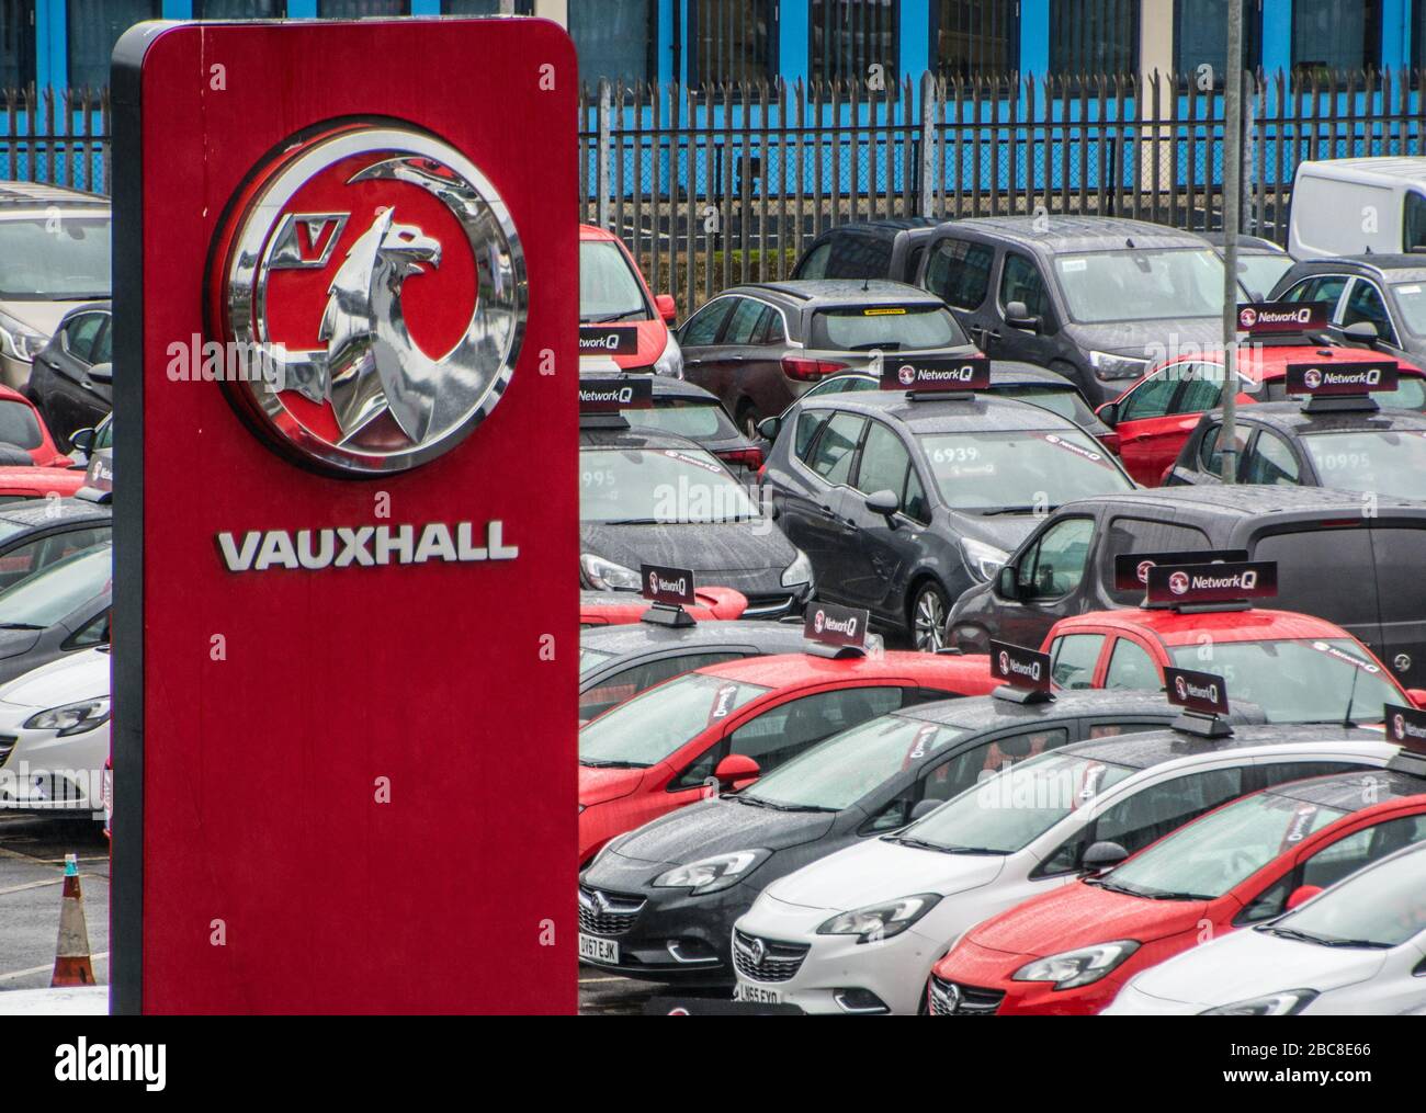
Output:
[[[1246,61],[1426,67],[1426,0],[1245,0]],[[1226,0],[3,0],[0,87],[100,86],[144,19],[540,14],[582,76],[712,83],[1010,71],[1221,71]]]

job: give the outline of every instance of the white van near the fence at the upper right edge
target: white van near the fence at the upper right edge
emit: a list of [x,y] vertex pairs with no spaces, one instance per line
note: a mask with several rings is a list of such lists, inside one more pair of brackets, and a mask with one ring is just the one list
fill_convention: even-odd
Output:
[[1426,157],[1301,162],[1288,252],[1295,259],[1426,251]]

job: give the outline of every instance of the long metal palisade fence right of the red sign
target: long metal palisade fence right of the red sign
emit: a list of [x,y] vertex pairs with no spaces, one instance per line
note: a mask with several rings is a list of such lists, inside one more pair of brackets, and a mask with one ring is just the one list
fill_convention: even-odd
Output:
[[[1422,74],[1255,74],[1243,231],[1286,238],[1302,160],[1422,154]],[[1222,90],[1196,74],[937,77],[585,90],[580,219],[686,314],[783,278],[864,219],[1104,214],[1222,227]]]

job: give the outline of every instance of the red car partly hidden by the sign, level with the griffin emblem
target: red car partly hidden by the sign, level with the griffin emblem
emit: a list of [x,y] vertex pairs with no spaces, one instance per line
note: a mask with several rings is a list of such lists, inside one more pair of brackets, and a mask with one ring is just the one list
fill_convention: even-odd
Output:
[[612,356],[622,371],[683,378],[683,352],[669,332],[679,306],[655,296],[627,248],[613,232],[579,225],[579,323],[637,325],[639,351]]

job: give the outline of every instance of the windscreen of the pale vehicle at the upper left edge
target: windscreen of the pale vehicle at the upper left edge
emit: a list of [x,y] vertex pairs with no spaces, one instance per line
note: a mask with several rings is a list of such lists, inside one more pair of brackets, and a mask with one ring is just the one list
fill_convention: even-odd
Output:
[[57,222],[44,215],[0,221],[0,298],[107,298],[108,224],[107,215],[64,217]]

